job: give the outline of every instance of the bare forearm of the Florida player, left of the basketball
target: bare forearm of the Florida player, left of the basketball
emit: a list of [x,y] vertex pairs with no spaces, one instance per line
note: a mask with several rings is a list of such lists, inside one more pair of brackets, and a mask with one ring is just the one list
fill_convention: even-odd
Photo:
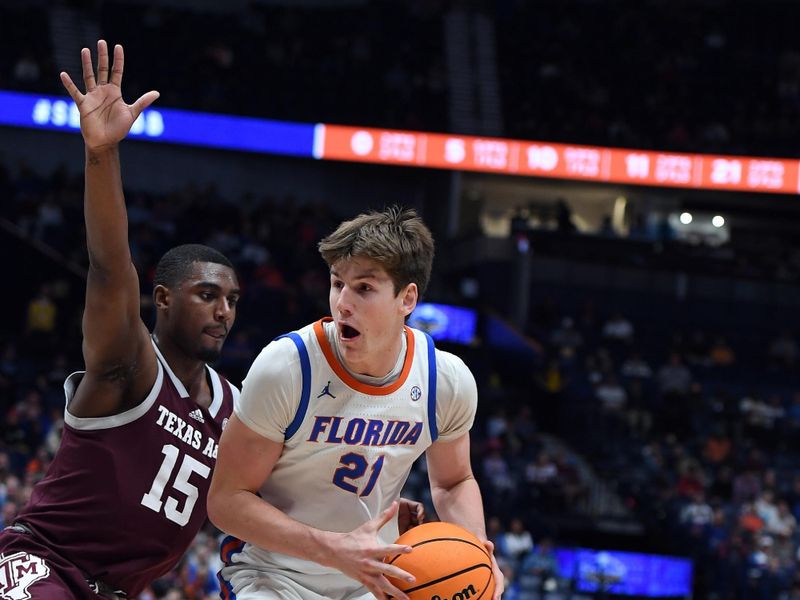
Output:
[[208,517],[222,531],[265,550],[330,565],[334,538],[287,516],[246,490],[209,496]]

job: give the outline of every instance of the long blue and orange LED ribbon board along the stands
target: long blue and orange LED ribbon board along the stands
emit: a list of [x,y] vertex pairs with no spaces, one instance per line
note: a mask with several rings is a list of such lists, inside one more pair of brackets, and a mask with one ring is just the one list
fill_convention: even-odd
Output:
[[[68,97],[0,91],[0,125],[77,132]],[[265,154],[599,183],[800,193],[800,161],[682,154],[456,134],[292,123],[169,108],[144,111],[131,137]]]

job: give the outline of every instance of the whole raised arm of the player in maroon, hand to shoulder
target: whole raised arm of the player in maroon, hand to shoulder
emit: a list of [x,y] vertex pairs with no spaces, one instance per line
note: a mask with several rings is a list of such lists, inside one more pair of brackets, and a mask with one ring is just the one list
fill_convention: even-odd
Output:
[[139,114],[156,98],[147,92],[132,105],[122,99],[124,55],[97,43],[97,79],[91,52],[81,51],[81,93],[67,73],[61,81],[80,112],[86,146],[84,217],[89,274],[83,315],[86,376],[70,404],[78,417],[116,414],[144,400],[157,363],[139,314],[139,278],[128,246],[128,216],[122,192],[118,144]]

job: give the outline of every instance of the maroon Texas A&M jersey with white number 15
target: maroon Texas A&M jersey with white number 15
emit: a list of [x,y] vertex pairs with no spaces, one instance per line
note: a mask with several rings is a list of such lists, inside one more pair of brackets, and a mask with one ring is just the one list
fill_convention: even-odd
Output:
[[69,412],[61,448],[17,520],[87,578],[136,597],[180,560],[206,520],[222,429],[239,391],[210,367],[208,409],[198,406],[163,356],[139,406],[119,415]]

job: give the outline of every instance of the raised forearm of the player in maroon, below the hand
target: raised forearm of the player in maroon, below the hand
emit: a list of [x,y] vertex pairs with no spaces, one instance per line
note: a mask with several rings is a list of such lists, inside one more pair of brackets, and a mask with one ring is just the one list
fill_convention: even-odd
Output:
[[86,246],[91,266],[101,273],[124,272],[131,256],[117,146],[86,148],[85,186]]

